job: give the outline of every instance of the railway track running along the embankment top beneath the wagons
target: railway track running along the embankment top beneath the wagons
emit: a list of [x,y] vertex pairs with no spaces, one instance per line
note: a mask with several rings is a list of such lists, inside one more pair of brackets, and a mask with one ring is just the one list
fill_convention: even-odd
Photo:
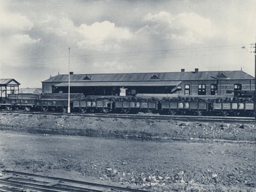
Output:
[[62,112],[33,112],[33,111],[10,111],[0,110],[0,113],[11,114],[38,114],[38,115],[70,115],[82,117],[102,117],[102,118],[120,118],[120,119],[152,119],[152,120],[172,120],[172,121],[199,121],[199,122],[237,122],[256,124],[256,119],[253,117],[222,117],[222,116],[193,116],[193,115],[138,115],[138,114],[65,114]]

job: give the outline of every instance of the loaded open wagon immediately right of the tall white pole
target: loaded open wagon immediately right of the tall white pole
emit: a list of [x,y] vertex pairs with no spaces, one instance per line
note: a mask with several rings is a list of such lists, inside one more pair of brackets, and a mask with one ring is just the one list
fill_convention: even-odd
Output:
[[73,109],[75,112],[102,112],[108,113],[112,111],[113,101],[106,99],[83,99],[83,100],[74,100]]

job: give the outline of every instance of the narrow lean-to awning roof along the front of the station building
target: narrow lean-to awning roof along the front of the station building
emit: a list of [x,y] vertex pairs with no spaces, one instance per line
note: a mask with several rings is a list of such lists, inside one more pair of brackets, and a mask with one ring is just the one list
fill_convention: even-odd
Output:
[[[100,86],[177,86],[181,81],[147,81],[147,82],[70,82],[71,87],[100,87]],[[56,87],[67,87],[68,82],[62,82]]]

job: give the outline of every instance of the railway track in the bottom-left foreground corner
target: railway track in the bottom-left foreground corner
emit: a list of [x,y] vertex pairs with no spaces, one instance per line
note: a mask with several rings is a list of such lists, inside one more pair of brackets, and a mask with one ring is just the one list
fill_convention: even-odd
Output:
[[3,173],[4,176],[0,177],[0,191],[3,192],[148,192],[140,189],[122,188],[106,184],[97,184],[94,182],[76,181],[60,177],[49,177],[10,170],[4,170]]

